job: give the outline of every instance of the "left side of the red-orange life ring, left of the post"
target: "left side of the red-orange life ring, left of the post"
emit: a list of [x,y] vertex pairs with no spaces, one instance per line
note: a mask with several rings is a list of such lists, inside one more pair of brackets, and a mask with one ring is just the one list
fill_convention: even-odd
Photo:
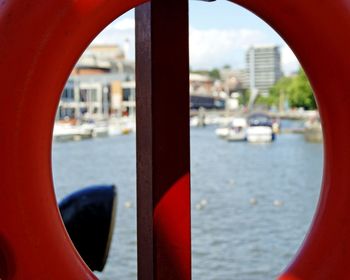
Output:
[[142,2],[0,1],[0,279],[96,279],[58,212],[53,122],[80,54],[104,27]]

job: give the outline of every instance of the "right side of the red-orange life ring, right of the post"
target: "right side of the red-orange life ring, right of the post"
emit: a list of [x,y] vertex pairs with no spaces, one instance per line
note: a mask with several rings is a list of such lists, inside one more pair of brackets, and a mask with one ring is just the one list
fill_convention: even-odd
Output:
[[349,279],[350,1],[235,0],[293,49],[315,91],[324,134],[321,197],[310,232],[283,280]]

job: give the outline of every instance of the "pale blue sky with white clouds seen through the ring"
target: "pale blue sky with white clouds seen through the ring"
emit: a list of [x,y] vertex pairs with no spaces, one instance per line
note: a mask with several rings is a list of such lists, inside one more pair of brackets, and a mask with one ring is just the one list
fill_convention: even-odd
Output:
[[[295,72],[299,63],[282,38],[264,21],[244,8],[224,0],[189,4],[191,69],[213,69],[230,65],[245,67],[245,51],[252,45],[281,48],[282,69]],[[134,12],[129,11],[102,31],[93,43],[119,44],[135,58]],[[210,58],[210,59],[209,59]]]

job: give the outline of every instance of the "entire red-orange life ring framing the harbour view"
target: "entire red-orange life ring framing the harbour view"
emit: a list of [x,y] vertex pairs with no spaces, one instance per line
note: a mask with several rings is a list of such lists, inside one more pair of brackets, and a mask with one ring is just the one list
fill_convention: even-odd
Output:
[[[61,89],[82,51],[108,23],[142,2],[0,1],[1,279],[95,279],[58,214],[50,158],[53,120]],[[280,279],[347,279],[349,0],[235,2],[264,19],[292,47],[315,90],[324,129],[318,209],[304,245]]]

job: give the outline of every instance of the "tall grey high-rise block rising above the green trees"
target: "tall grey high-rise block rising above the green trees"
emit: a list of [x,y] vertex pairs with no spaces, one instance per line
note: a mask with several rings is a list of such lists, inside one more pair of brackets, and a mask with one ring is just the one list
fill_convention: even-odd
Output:
[[246,63],[250,89],[268,95],[269,89],[282,77],[279,47],[250,47],[246,53]]

